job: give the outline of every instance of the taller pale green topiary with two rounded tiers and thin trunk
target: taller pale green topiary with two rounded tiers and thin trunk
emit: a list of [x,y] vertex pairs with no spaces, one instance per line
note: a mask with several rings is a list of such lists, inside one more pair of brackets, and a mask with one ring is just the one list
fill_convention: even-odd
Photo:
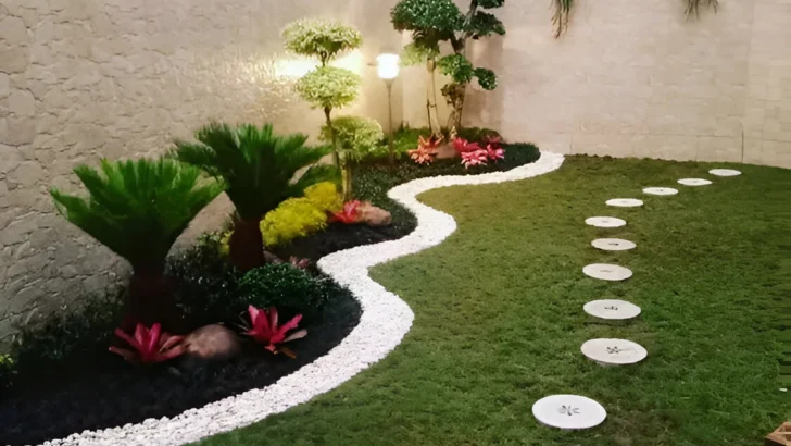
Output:
[[[354,72],[329,62],[363,42],[360,32],[339,22],[324,18],[305,18],[289,24],[282,32],[286,48],[300,55],[317,58],[321,65],[297,82],[297,92],[314,109],[324,110],[326,125],[332,128],[332,110],[343,108],[357,99],[362,78]],[[340,166],[340,156],[335,149],[335,163]]]

